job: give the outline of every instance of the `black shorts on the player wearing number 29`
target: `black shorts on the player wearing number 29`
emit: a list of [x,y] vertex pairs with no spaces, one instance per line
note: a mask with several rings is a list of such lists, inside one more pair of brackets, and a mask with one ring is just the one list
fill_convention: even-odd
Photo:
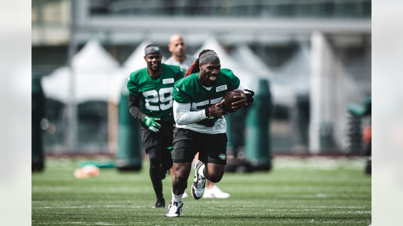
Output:
[[154,133],[153,131],[149,130],[143,122],[141,122],[140,129],[145,153],[148,152],[148,148],[156,145],[161,145],[162,149],[172,147],[175,120],[172,119],[165,122],[158,121],[158,123],[161,125],[161,129],[160,131]]

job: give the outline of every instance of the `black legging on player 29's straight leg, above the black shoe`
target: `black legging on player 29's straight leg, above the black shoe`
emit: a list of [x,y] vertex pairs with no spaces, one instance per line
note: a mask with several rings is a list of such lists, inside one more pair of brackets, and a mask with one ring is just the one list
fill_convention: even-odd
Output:
[[150,178],[158,199],[158,197],[162,197],[161,146],[148,149],[148,157],[150,158]]

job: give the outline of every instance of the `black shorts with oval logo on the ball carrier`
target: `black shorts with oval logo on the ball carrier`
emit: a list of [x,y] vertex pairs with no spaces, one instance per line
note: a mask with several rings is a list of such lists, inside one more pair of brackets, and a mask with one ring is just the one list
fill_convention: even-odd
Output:
[[228,138],[223,134],[204,134],[191,129],[174,129],[173,162],[192,162],[199,152],[199,160],[204,163],[226,165],[226,144]]

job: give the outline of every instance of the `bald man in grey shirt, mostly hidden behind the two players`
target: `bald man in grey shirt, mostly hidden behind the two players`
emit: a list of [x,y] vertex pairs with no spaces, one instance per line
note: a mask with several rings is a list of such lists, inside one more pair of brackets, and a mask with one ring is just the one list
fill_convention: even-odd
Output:
[[[181,70],[186,73],[187,69],[195,62],[196,58],[186,53],[186,44],[183,41],[182,35],[173,34],[169,39],[168,49],[172,53],[172,56],[164,61],[164,64],[170,64],[179,66]],[[195,156],[195,161],[198,160],[198,153]],[[170,174],[174,175],[174,169],[170,169]],[[183,194],[183,198],[188,197],[187,193]],[[228,198],[229,193],[225,193],[220,188],[207,180],[207,187],[204,191],[204,198]]]

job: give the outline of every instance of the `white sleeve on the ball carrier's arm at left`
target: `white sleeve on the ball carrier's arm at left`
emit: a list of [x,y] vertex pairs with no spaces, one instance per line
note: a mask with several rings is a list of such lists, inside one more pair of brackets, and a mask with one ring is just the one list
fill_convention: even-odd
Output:
[[200,111],[190,111],[190,103],[178,103],[174,101],[173,109],[174,119],[178,125],[187,125],[207,119],[204,109]]

